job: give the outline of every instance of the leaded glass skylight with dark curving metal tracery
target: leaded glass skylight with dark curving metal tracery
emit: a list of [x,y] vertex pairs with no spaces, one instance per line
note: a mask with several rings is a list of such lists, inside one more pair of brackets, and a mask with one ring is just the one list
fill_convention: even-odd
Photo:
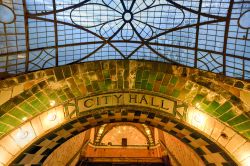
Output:
[[0,0],[0,77],[107,59],[250,80],[247,0]]

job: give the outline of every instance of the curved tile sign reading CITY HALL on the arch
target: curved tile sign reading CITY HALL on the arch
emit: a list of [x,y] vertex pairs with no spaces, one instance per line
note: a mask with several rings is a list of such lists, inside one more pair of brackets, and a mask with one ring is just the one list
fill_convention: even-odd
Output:
[[102,94],[78,100],[79,112],[112,106],[150,107],[173,114],[175,102],[160,96],[135,92]]

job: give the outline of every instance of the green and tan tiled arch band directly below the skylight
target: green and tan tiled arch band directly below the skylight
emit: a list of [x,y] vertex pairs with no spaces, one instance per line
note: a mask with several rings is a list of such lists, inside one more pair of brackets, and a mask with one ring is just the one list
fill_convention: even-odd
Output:
[[22,117],[29,119],[50,109],[49,100],[60,105],[74,98],[127,90],[157,93],[195,107],[198,104],[199,109],[249,139],[249,108],[235,95],[248,91],[249,85],[223,78],[147,61],[96,61],[20,75],[0,81],[1,92],[23,88],[0,106],[0,135],[21,125]]

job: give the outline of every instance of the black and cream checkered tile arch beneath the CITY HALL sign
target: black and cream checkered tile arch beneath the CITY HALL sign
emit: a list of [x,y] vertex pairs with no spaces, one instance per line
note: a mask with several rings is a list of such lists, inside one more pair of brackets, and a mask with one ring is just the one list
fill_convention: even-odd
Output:
[[[93,114],[93,112],[95,113]],[[130,106],[85,111],[79,117],[69,120],[34,141],[10,165],[42,164],[49,154],[73,136],[92,127],[113,122],[145,123],[168,132],[190,146],[206,165],[237,165],[228,152],[185,122],[177,120],[163,111]],[[48,142],[50,143],[48,144]]]

